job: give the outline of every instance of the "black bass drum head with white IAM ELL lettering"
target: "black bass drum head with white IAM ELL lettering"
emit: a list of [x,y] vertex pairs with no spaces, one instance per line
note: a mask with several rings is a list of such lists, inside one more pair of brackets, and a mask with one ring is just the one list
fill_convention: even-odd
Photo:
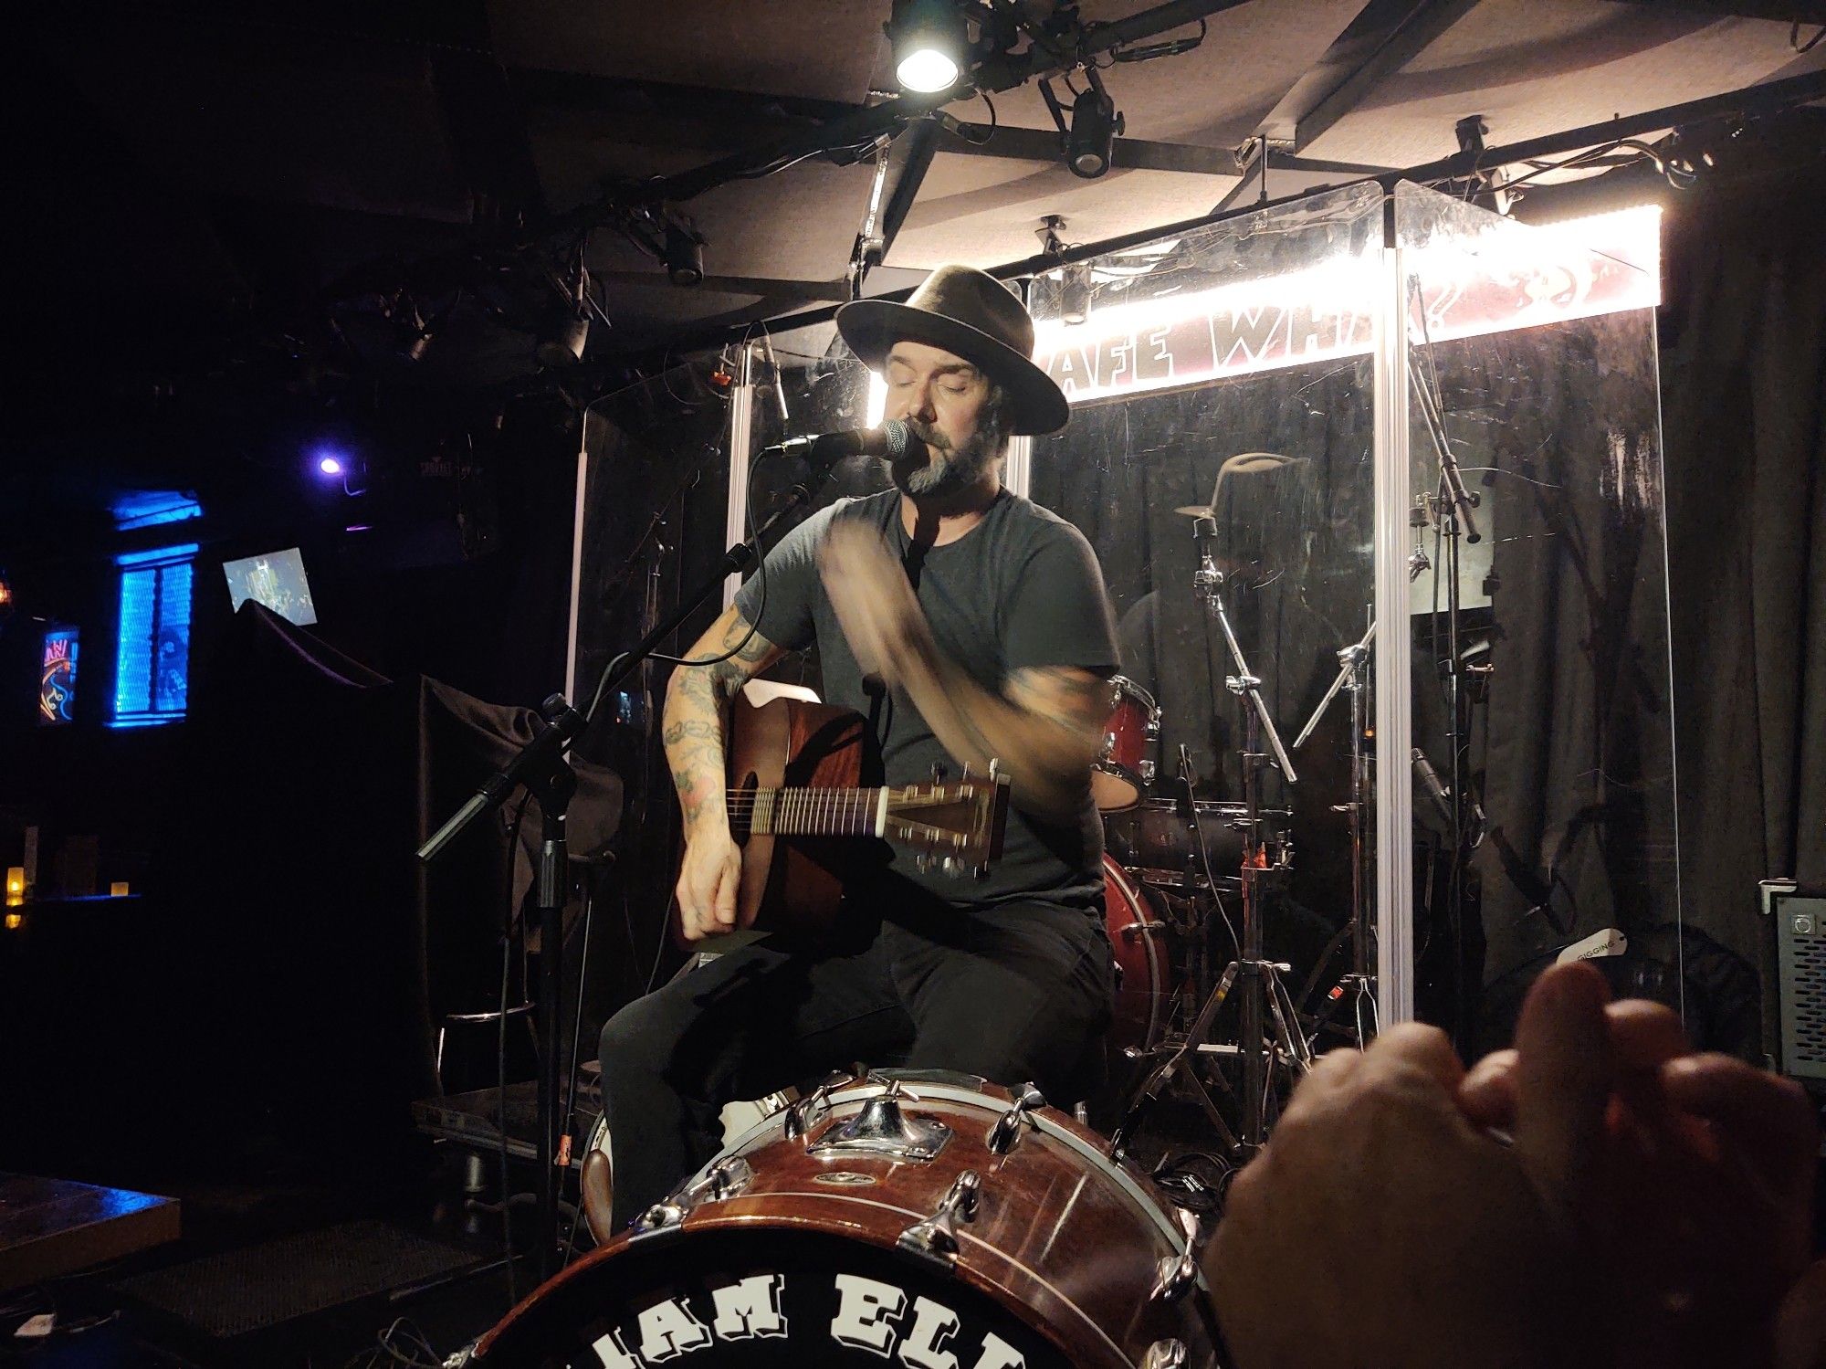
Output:
[[[953,1356],[953,1358],[948,1358]],[[522,1301],[475,1365],[1070,1369],[997,1300],[915,1256],[767,1227],[599,1250]]]

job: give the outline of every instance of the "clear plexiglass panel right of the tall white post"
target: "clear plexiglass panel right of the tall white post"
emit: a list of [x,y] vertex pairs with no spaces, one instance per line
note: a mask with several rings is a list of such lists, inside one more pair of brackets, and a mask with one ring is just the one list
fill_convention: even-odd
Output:
[[1413,745],[1461,790],[1415,767],[1417,1009],[1503,1044],[1572,955],[1678,1009],[1653,210],[1532,230],[1402,184],[1395,225]]

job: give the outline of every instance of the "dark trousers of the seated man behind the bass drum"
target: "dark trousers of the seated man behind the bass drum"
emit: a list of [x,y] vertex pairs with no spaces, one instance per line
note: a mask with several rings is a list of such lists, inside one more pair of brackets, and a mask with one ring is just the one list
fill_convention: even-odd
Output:
[[1101,916],[1052,904],[882,924],[853,955],[761,940],[679,975],[603,1028],[615,1228],[721,1148],[725,1103],[856,1061],[1032,1081],[1072,1106],[1110,993]]

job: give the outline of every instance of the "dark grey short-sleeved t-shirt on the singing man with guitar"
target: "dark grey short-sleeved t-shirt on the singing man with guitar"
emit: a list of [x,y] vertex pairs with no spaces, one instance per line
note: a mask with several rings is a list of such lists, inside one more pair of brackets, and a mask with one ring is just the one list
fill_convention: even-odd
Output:
[[[959,763],[931,734],[908,695],[866,681],[818,575],[818,548],[834,518],[871,524],[900,553],[939,650],[982,688],[1001,694],[1008,675],[1030,666],[1081,666],[1116,674],[1116,633],[1097,557],[1072,524],[1002,491],[975,528],[946,546],[917,548],[900,522],[900,493],[844,498],[802,522],[767,555],[761,577],[736,593],[741,615],[778,646],[818,643],[825,703],[873,719],[889,785],[931,779],[935,763],[951,778]],[[1015,768],[1017,758],[1004,758]],[[895,851],[891,876],[911,880],[953,907],[1037,898],[1092,907],[1103,893],[1103,823],[1086,790],[1077,821],[1044,821],[1010,805],[1002,856],[984,880],[920,873]]]

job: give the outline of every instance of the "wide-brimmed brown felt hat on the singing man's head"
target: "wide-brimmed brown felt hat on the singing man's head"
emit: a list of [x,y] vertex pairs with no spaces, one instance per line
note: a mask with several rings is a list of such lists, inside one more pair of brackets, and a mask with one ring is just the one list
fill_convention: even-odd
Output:
[[844,305],[836,330],[875,371],[897,341],[942,347],[981,367],[1008,392],[1010,433],[1057,433],[1072,416],[1065,391],[1034,365],[1034,316],[1013,290],[975,266],[939,266],[904,305]]

